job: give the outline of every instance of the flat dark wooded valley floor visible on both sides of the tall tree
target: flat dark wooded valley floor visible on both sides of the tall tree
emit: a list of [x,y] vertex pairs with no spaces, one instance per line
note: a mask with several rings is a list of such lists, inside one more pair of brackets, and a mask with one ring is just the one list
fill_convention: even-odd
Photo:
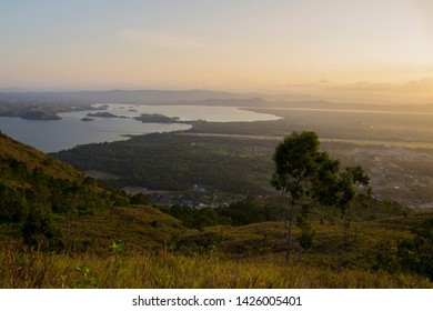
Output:
[[[258,131],[262,122],[248,127]],[[198,184],[204,189],[202,197],[208,197],[198,202],[212,203],[216,191],[216,202],[222,204],[229,202],[221,198],[225,193],[274,193],[269,181],[274,171],[272,154],[281,140],[282,137],[161,133],[80,146],[53,156],[82,171],[111,174],[112,179],[107,180],[111,185],[185,192]],[[433,202],[433,165],[430,165],[433,149],[359,146],[334,140],[321,141],[321,149],[339,159],[343,168],[361,165],[380,198],[392,198],[411,208]]]

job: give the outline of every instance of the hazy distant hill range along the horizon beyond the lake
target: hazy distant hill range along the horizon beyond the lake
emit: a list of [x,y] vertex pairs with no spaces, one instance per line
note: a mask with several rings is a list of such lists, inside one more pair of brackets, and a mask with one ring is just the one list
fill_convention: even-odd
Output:
[[305,94],[284,93],[238,93],[213,90],[107,90],[107,91],[8,91],[0,90],[1,107],[49,106],[54,110],[62,107],[90,106],[93,103],[134,104],[198,104],[235,107],[280,107],[308,109],[350,109],[380,111],[432,111],[433,104],[385,104],[362,102],[331,102]]

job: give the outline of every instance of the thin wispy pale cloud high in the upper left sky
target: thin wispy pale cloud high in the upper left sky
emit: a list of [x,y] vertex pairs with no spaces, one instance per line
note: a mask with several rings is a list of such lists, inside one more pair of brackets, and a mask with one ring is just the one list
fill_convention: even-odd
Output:
[[142,46],[161,48],[197,48],[205,46],[193,37],[147,29],[125,29],[119,31],[118,34],[124,40]]

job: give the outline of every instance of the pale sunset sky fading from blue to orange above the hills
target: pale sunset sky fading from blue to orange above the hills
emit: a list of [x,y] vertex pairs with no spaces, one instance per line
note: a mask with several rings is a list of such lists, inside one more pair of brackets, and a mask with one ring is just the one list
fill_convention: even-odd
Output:
[[0,0],[0,89],[433,103],[433,0]]

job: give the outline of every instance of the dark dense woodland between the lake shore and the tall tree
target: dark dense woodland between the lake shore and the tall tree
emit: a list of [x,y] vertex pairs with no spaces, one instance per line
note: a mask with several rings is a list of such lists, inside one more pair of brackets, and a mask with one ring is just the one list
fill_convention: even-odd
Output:
[[[110,183],[152,190],[208,190],[270,193],[273,142],[157,133],[128,142],[95,143],[60,151],[54,157],[80,170],[118,175]],[[125,161],[124,159],[128,159]]]

